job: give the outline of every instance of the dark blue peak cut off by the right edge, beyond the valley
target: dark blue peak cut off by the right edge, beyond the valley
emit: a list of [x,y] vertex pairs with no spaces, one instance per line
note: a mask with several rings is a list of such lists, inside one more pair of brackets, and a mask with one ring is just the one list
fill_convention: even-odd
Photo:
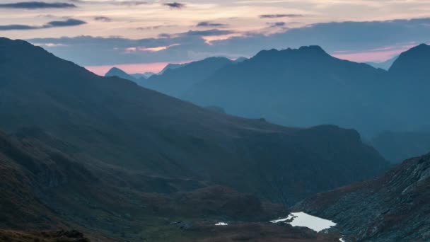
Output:
[[390,93],[390,99],[385,100],[383,108],[392,113],[392,122],[401,123],[400,128],[388,130],[430,132],[430,123],[425,121],[430,118],[429,76],[429,45],[418,45],[400,54],[388,72],[390,86],[385,92]]

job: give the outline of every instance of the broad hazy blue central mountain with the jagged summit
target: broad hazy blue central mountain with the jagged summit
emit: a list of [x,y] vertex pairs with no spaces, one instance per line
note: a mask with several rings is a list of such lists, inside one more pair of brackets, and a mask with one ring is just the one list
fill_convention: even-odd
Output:
[[375,122],[385,117],[378,108],[385,76],[386,71],[336,59],[318,46],[265,50],[223,67],[181,97],[282,125],[335,124],[368,134],[387,128]]

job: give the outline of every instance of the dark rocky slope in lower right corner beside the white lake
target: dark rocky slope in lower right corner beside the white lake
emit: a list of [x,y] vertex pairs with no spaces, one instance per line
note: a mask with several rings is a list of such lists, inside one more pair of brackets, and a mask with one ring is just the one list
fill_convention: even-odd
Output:
[[347,241],[429,241],[430,155],[381,178],[325,192],[296,209],[333,219]]

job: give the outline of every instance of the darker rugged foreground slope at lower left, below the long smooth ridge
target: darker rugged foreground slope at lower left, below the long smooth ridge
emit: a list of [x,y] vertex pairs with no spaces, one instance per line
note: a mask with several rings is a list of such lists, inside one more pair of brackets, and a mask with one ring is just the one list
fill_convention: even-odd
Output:
[[[37,133],[38,138],[23,133]],[[53,139],[35,129],[13,136],[0,133],[0,241],[88,241],[76,231],[33,232],[65,228],[84,231],[94,241],[188,241],[210,234],[209,229],[199,231],[201,223],[213,228],[220,219],[267,221],[283,211],[280,205],[231,188],[147,176],[107,164],[86,168],[40,142],[43,136]],[[194,223],[195,231],[181,232],[180,227]],[[316,235],[308,231],[307,237]]]

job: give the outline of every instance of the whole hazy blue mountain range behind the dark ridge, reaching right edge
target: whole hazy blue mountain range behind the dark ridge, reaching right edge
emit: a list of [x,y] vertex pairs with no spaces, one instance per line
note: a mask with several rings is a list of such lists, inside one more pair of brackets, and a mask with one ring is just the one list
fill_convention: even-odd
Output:
[[[419,45],[403,53],[390,71],[331,57],[317,46],[267,50],[210,75],[181,75],[178,68],[174,77],[158,76],[149,87],[197,105],[280,125],[334,124],[357,129],[366,137],[385,130],[428,131],[425,120],[430,111],[424,105],[429,96],[424,90],[430,85],[429,49]],[[174,82],[169,86],[175,92],[156,82]],[[186,88],[188,83],[192,87]]]

